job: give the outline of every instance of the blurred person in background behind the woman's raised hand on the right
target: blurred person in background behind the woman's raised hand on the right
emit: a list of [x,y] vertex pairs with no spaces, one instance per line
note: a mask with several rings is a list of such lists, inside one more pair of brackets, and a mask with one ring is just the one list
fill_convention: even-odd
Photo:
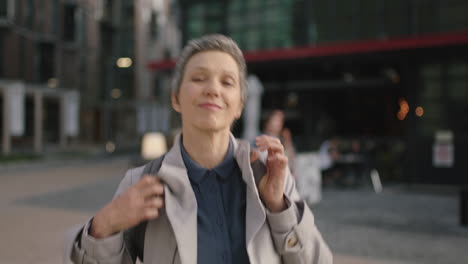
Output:
[[289,168],[291,173],[293,176],[296,176],[296,150],[294,148],[291,131],[284,126],[284,122],[284,112],[279,109],[273,110],[273,112],[271,112],[265,120],[263,133],[280,139],[281,143],[283,143],[284,151],[289,160]]

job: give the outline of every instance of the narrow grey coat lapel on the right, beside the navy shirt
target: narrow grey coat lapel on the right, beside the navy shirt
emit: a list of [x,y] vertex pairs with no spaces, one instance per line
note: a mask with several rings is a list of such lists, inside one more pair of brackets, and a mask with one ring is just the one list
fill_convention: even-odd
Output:
[[243,140],[234,139],[234,151],[239,168],[242,171],[242,178],[247,185],[246,188],[246,201],[247,208],[245,212],[245,242],[247,249],[252,242],[255,234],[260,230],[266,220],[265,208],[258,195],[257,185],[250,165],[250,144]]

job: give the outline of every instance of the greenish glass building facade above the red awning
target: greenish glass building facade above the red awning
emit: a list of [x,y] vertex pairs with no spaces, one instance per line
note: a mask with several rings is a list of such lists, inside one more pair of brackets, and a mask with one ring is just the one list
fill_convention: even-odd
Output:
[[230,35],[243,50],[468,29],[465,0],[180,1],[184,39]]

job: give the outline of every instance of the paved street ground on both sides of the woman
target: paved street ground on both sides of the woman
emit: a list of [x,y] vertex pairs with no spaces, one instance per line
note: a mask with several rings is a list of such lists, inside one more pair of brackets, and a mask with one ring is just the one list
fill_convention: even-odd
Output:
[[[61,263],[67,230],[109,199],[127,158],[0,170],[0,263]],[[313,208],[337,264],[468,263],[455,193],[326,190]]]

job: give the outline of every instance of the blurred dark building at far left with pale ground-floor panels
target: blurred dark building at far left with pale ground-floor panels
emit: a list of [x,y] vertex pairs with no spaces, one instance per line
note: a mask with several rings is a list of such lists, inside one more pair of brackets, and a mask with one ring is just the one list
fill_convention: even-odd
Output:
[[[92,95],[99,78],[96,18],[101,9],[100,1],[88,0],[0,2],[4,154],[42,152],[44,146],[65,146],[77,138],[79,96]],[[10,83],[18,85],[5,88]],[[21,114],[7,107],[13,103],[5,100],[7,91],[20,94],[15,103]],[[20,129],[11,133],[7,118]]]

